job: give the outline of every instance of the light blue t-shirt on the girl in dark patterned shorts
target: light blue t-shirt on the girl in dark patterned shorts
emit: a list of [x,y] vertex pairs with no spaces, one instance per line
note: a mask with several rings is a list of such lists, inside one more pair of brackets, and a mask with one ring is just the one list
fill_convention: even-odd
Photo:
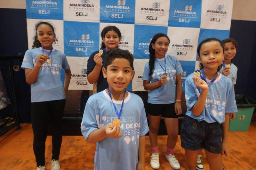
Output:
[[[187,113],[191,118],[205,121],[208,123],[225,122],[225,113],[237,112],[235,92],[232,82],[226,76],[220,76],[209,85],[209,92],[206,97],[204,110],[200,116],[193,115],[191,108],[198,100],[202,89],[196,87],[192,79],[193,73],[186,78],[185,82],[185,98],[187,104]],[[209,83],[210,80],[206,79]]]

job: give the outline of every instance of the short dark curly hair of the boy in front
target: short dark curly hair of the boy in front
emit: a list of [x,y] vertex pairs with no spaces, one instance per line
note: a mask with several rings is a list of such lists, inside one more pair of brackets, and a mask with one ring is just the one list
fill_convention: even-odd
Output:
[[130,62],[130,66],[131,66],[132,70],[134,70],[133,55],[128,50],[123,50],[123,49],[119,49],[119,48],[116,48],[114,50],[109,50],[107,52],[104,68],[107,70],[108,65],[110,65],[116,58],[127,59]]

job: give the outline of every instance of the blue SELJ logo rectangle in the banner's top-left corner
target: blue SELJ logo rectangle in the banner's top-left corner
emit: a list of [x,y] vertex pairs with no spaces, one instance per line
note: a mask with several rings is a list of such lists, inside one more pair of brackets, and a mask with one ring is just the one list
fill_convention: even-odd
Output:
[[63,4],[60,0],[26,0],[27,18],[63,19]]

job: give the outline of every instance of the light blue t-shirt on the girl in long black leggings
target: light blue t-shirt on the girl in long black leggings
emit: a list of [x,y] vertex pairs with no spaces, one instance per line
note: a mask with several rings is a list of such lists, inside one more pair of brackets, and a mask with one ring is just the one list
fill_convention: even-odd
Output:
[[[49,52],[50,50],[45,51]],[[42,53],[41,47],[27,50],[21,68],[33,69],[37,62],[37,56]],[[41,66],[35,83],[31,85],[32,103],[66,99],[61,82],[61,68],[69,69],[67,58],[64,53],[53,48],[50,59],[51,63],[45,62]]]

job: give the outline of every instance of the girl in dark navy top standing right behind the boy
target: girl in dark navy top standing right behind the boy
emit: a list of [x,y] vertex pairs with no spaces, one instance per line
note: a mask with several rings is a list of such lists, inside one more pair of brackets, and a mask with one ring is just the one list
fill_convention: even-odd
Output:
[[121,32],[116,26],[107,26],[101,31],[101,48],[92,53],[87,63],[87,79],[93,84],[93,94],[108,88],[107,79],[103,77],[102,68],[105,55],[109,50],[116,49],[121,40]]

